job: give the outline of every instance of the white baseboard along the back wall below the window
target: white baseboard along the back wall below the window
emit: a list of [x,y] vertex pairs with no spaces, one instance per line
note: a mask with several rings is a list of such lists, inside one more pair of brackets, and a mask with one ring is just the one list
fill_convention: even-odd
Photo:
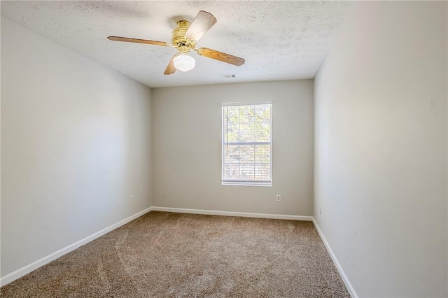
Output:
[[232,211],[215,211],[202,209],[186,209],[186,208],[169,208],[153,206],[153,211],[165,211],[175,213],[193,213],[206,215],[225,215],[225,216],[239,216],[241,218],[272,218],[276,220],[307,220],[312,221],[312,216],[300,215],[282,215],[282,214],[265,214],[265,213],[246,213],[246,212],[232,212]]

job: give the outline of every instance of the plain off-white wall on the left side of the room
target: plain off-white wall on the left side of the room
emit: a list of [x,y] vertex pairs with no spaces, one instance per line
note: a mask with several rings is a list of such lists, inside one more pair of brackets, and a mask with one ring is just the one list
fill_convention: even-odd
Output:
[[151,90],[5,17],[1,146],[1,276],[152,204]]

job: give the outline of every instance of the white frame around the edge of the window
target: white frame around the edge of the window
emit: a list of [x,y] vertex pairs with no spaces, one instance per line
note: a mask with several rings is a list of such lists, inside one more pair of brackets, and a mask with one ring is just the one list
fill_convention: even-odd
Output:
[[[225,125],[224,125],[224,117],[223,117],[223,108],[225,106],[255,106],[255,105],[259,105],[259,104],[270,104],[271,108],[270,108],[270,115],[269,115],[269,125],[271,127],[270,130],[270,152],[269,152],[269,176],[271,177],[270,182],[264,182],[264,183],[260,183],[257,181],[251,181],[251,180],[246,180],[246,181],[225,181],[223,178],[223,170],[224,170],[224,146],[225,146],[225,142],[224,142],[224,129],[225,129]],[[272,131],[274,130],[274,127],[272,125],[272,101],[245,101],[245,102],[226,102],[226,103],[222,103],[221,104],[221,185],[233,185],[233,186],[264,186],[264,187],[272,187],[272,146],[273,146],[273,140],[272,140]]]

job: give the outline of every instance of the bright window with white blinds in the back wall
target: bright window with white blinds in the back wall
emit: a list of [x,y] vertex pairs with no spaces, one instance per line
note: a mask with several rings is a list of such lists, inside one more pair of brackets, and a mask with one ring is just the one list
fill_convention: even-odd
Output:
[[272,104],[223,104],[223,185],[272,185]]

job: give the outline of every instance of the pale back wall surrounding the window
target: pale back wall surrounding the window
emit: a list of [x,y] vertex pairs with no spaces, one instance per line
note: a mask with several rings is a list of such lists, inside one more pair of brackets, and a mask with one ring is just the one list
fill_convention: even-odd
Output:
[[[313,88],[291,80],[153,89],[154,206],[311,215]],[[221,103],[230,101],[272,101],[272,187],[221,185]]]

